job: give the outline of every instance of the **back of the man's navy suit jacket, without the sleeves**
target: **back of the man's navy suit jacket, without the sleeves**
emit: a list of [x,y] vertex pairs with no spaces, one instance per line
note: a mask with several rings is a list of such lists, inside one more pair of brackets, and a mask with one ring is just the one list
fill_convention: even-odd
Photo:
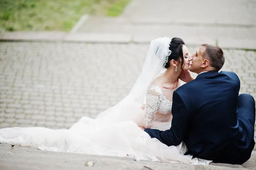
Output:
[[[233,72],[205,72],[176,92],[191,114],[184,142],[186,154],[221,162],[239,135],[237,102],[240,81]],[[240,149],[239,146],[237,148]]]

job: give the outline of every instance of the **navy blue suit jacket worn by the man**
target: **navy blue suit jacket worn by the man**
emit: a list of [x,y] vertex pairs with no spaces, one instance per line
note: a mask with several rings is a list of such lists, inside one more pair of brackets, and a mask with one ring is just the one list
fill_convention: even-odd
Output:
[[171,129],[145,132],[168,146],[184,141],[188,148],[185,155],[242,164],[250,158],[247,153],[254,144],[248,144],[239,126],[239,89],[240,81],[234,72],[201,73],[174,91]]

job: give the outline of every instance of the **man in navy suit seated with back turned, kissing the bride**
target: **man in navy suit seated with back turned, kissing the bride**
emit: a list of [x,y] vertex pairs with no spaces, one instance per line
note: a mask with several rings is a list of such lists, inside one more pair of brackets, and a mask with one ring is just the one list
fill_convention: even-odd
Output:
[[168,146],[184,141],[185,155],[243,164],[255,144],[255,101],[239,95],[234,72],[218,72],[225,61],[220,47],[203,44],[192,58],[190,71],[198,76],[173,93],[172,127],[145,132]]

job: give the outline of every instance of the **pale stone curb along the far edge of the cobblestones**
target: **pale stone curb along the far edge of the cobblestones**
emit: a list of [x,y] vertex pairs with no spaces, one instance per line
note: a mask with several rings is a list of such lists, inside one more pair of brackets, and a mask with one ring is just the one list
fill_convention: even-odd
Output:
[[[150,43],[160,35],[129,35],[114,33],[68,33],[68,32],[2,32],[0,41],[29,42],[83,42],[83,43]],[[169,37],[175,37],[172,35]],[[223,49],[256,49],[256,40],[213,39],[209,37],[182,37],[187,46],[199,47],[203,43],[217,44]]]

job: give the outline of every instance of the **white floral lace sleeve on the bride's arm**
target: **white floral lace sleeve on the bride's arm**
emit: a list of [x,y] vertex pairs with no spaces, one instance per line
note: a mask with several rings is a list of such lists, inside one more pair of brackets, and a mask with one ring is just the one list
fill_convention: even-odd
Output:
[[160,97],[155,92],[154,87],[151,87],[148,90],[147,96],[146,96],[146,105],[145,105],[145,127],[150,127],[150,125],[155,120],[155,114],[159,108],[160,105]]

